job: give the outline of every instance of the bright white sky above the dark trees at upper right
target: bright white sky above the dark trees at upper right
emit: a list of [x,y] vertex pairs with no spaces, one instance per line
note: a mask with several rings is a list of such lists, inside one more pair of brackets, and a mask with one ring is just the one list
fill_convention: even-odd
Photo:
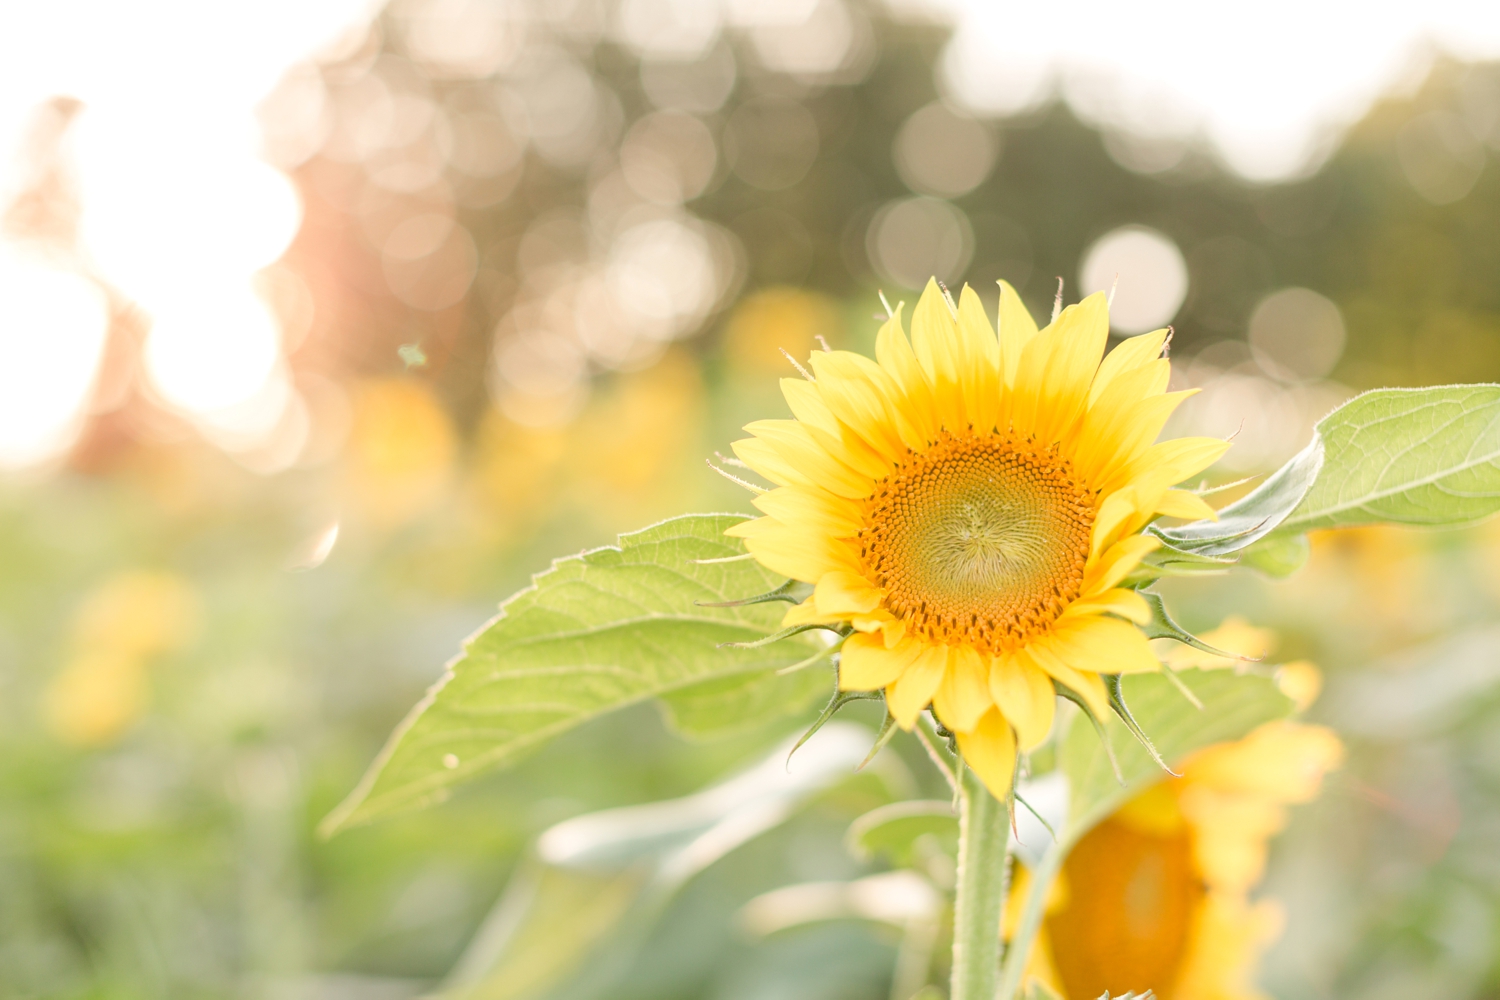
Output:
[[918,0],[958,22],[956,93],[1017,111],[1058,93],[1086,118],[1204,135],[1239,172],[1286,177],[1432,52],[1500,57],[1496,0]]

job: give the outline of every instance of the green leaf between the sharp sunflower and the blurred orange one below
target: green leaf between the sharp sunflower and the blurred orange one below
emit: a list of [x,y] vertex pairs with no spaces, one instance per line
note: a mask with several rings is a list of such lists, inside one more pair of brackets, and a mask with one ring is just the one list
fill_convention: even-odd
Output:
[[[1256,673],[1182,670],[1178,678],[1203,702],[1203,711],[1188,705],[1161,675],[1124,678],[1131,712],[1162,759],[1174,768],[1194,750],[1239,739],[1262,723],[1287,717],[1293,708],[1292,700],[1276,690],[1275,681]],[[1104,732],[1119,760],[1124,786],[1116,780],[1108,753],[1092,726],[1076,721],[1062,741],[1059,766],[1068,775],[1071,790],[1064,837],[1068,843],[1077,841],[1095,823],[1164,777],[1119,720],[1110,718]]]

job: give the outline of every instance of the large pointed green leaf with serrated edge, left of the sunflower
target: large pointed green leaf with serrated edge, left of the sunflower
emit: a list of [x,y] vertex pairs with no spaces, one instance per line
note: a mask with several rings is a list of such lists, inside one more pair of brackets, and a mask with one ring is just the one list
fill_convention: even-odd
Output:
[[465,643],[321,832],[441,801],[460,781],[604,712],[806,660],[820,646],[808,636],[720,648],[776,631],[782,604],[698,604],[782,583],[752,559],[732,559],[744,546],[724,529],[741,520],[675,517],[537,574]]

